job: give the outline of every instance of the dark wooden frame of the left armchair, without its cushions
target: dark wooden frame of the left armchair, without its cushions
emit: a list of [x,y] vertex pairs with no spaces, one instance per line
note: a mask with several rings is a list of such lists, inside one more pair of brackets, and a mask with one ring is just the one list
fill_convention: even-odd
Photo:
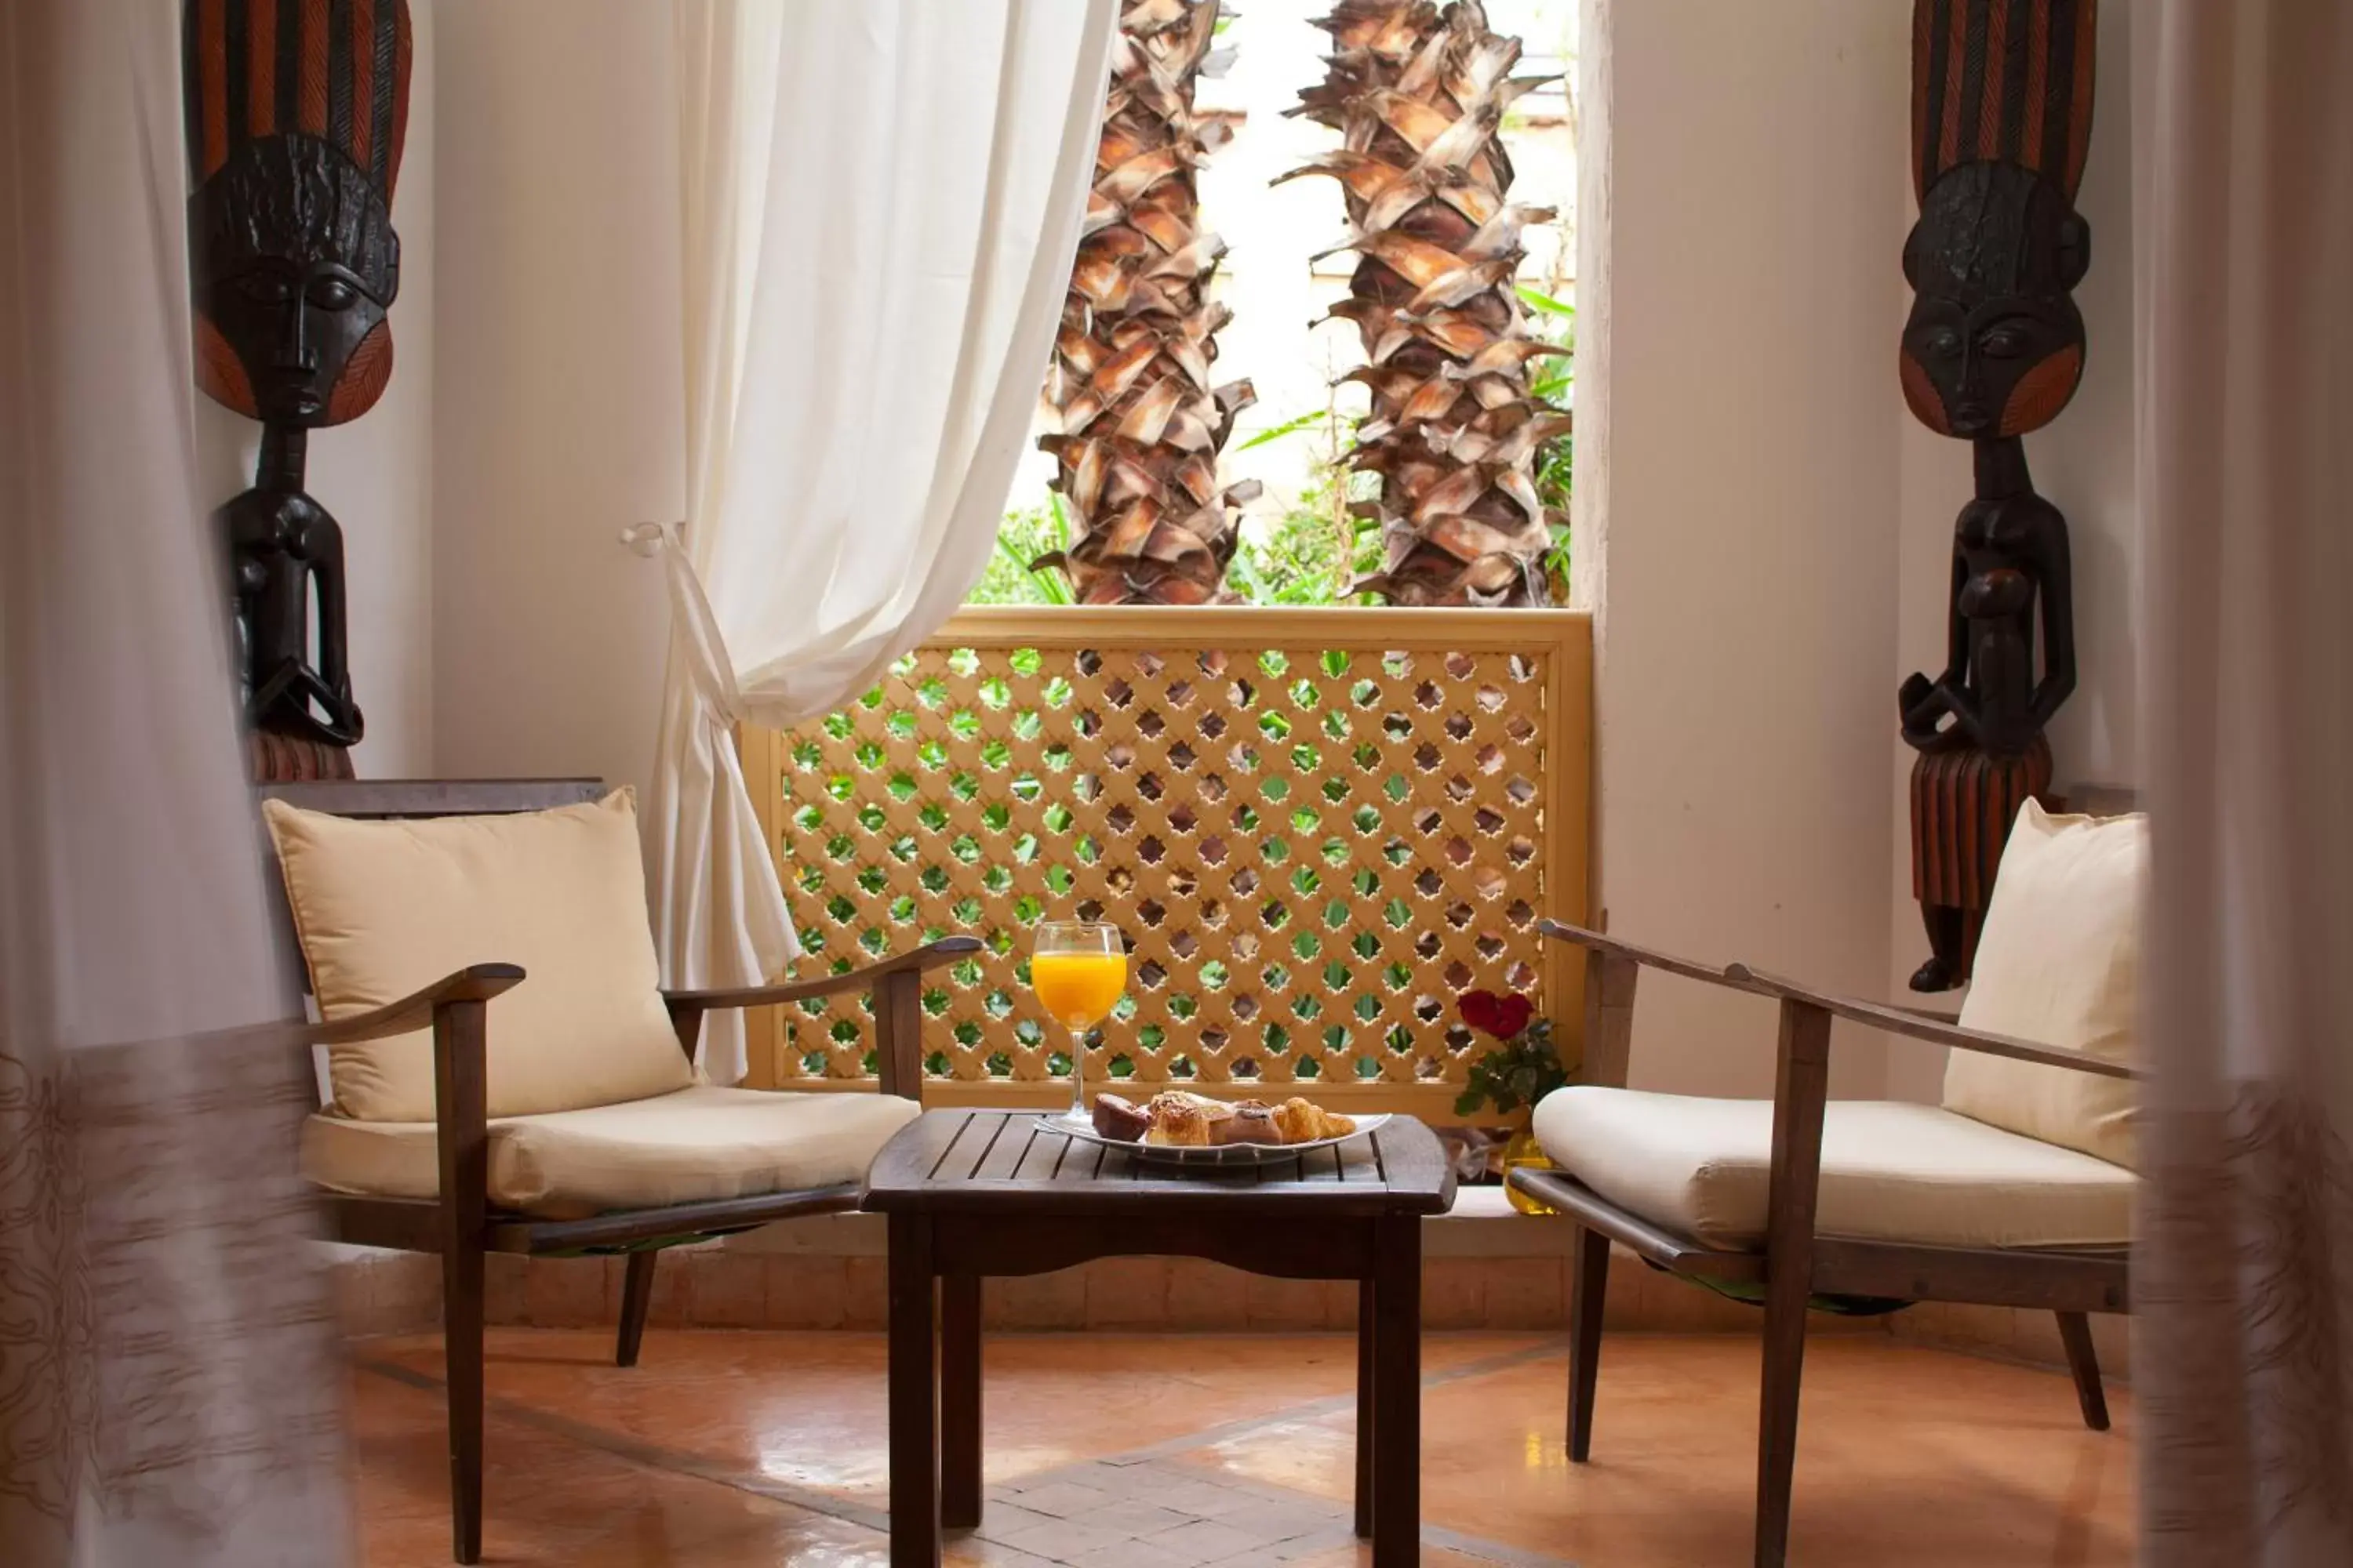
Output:
[[[325,811],[351,818],[440,818],[440,816],[492,816],[544,811],[551,806],[574,806],[595,802],[602,788],[595,780],[494,780],[494,783],[304,783],[266,785],[266,799],[280,799],[304,811]],[[882,1095],[920,1100],[922,1095],[922,971],[979,952],[972,938],[946,938],[913,952],[896,954],[866,969],[805,980],[793,985],[760,985],[746,990],[685,990],[664,992],[678,1048],[694,1060],[704,1016],[722,1009],[769,1006],[828,997],[838,992],[866,990],[873,997],[875,1056],[882,1079]],[[449,1382],[449,1493],[452,1493],[452,1552],[459,1563],[480,1561],[482,1554],[482,1272],[487,1253],[626,1253],[628,1272],[621,1293],[621,1326],[614,1347],[619,1366],[635,1366],[638,1345],[645,1333],[645,1314],[654,1288],[654,1265],[659,1248],[678,1241],[722,1237],[751,1229],[769,1220],[791,1215],[849,1211],[864,1197],[864,1171],[873,1150],[880,1147],[887,1126],[856,1128],[845,1147],[835,1147],[828,1161],[838,1166],[828,1180],[791,1190],[751,1190],[729,1197],[704,1197],[640,1208],[598,1208],[572,1218],[546,1218],[492,1201],[492,1145],[525,1124],[560,1124],[593,1112],[560,1112],[555,1117],[489,1117],[489,1058],[496,1032],[492,1030],[492,1001],[520,985],[525,971],[515,964],[471,964],[424,990],[379,1006],[360,1016],[336,1018],[313,1027],[313,1041],[322,1046],[346,1046],[355,1041],[381,1041],[421,1027],[433,1030],[433,1126],[431,1159],[438,1161],[428,1175],[431,1194],[416,1192],[353,1192],[346,1171],[334,1173],[334,1187],[322,1190],[320,1204],[329,1218],[329,1234],[360,1246],[388,1246],[412,1253],[440,1253],[442,1258],[442,1331]],[[736,1091],[704,1091],[727,1095]],[[854,1107],[861,1095],[748,1095],[741,1105],[748,1112],[762,1110],[755,1100],[786,1103],[840,1103]],[[873,1098],[866,1098],[873,1105]],[[612,1112],[633,1110],[628,1105],[600,1107]],[[824,1107],[819,1107],[824,1110]],[[906,1112],[913,1117],[913,1110]],[[313,1124],[334,1121],[315,1117]],[[673,1117],[668,1126],[678,1126]],[[741,1135],[744,1124],[736,1124]],[[348,1131],[348,1128],[344,1128]],[[664,1133],[654,1133],[659,1143]],[[791,1128],[779,1135],[791,1138]],[[645,1138],[640,1138],[640,1145]],[[598,1145],[588,1147],[591,1159]],[[306,1164],[313,1150],[306,1147]],[[685,1157],[692,1159],[692,1145]],[[320,1180],[313,1168],[313,1180]],[[386,1182],[414,1185],[414,1182]],[[736,1178],[736,1185],[758,1187],[758,1175]],[[551,1190],[560,1197],[562,1178],[551,1178]]]

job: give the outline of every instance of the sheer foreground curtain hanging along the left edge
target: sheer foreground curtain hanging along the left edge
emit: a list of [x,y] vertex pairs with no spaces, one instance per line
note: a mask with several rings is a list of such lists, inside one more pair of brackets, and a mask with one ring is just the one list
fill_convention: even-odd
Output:
[[[0,7],[0,1559],[332,1563],[341,1368],[193,480],[179,5]],[[129,1044],[146,1041],[146,1044]]]

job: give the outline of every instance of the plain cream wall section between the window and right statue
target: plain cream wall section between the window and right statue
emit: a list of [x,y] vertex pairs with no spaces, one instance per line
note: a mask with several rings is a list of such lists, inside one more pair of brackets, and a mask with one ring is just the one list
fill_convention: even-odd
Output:
[[[1593,0],[1584,47],[1600,903],[1640,943],[1878,992],[1908,7]],[[1772,1039],[1769,1006],[1654,978],[1633,1081],[1767,1093]],[[1880,1081],[1873,1044],[1833,1058],[1838,1093]]]

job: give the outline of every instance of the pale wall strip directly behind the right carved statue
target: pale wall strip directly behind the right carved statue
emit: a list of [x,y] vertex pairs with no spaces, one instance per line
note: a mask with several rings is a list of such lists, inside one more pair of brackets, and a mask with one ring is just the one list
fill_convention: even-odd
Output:
[[[2035,489],[2066,512],[2075,557],[2075,670],[2078,689],[2049,726],[2059,792],[2075,785],[2139,783],[2139,686],[2134,677],[2134,590],[2139,569],[2139,505],[2132,451],[2132,7],[2108,5],[2099,16],[2099,85],[2092,113],[2092,150],[2085,160],[2075,207],[2092,226],[2092,270],[2075,289],[2075,306],[2089,343],[2075,402],[2040,435],[2026,437],[2026,461]],[[1904,195],[1911,221],[1911,188]],[[1889,336],[1889,343],[1894,339]],[[1889,350],[1892,353],[1892,350]],[[1913,670],[1944,668],[1946,574],[1953,552],[1953,517],[1969,501],[1974,480],[1969,447],[1934,435],[1915,418],[1901,428],[1901,567],[1897,663],[1892,693]],[[1889,696],[1889,712],[1894,696]],[[1904,780],[1913,752],[1894,741],[1897,818],[1892,849],[1889,994],[1927,957],[1920,905],[1911,893],[1911,818]],[[1911,1100],[1934,1100],[1944,1081],[1944,1051],[1897,1041],[1889,1051],[1887,1091]]]

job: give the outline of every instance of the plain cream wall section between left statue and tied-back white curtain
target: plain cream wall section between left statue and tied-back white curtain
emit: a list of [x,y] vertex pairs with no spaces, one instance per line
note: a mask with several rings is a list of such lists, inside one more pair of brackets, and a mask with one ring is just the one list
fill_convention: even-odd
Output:
[[[668,611],[616,543],[682,508],[671,9],[440,16],[433,757],[652,773]],[[821,155],[812,150],[812,155]]]

